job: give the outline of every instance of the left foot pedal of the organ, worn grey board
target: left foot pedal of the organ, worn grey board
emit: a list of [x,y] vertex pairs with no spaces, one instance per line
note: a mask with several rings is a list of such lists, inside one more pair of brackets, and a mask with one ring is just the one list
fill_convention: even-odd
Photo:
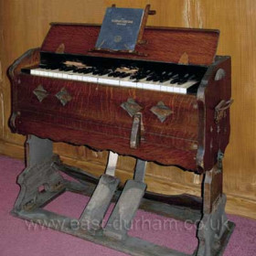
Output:
[[80,226],[95,232],[101,229],[101,222],[109,208],[120,180],[114,176],[102,175],[91,199],[80,216]]

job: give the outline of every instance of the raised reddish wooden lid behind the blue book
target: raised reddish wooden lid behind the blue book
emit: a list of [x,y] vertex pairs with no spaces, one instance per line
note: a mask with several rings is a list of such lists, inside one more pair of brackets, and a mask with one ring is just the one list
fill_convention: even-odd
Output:
[[146,43],[136,46],[138,54],[109,54],[92,51],[99,32],[100,27],[91,25],[53,23],[41,50],[56,52],[60,45],[64,45],[65,53],[70,54],[173,63],[178,63],[187,54],[189,64],[207,66],[215,59],[219,41],[219,30],[214,29],[145,27],[143,38]]

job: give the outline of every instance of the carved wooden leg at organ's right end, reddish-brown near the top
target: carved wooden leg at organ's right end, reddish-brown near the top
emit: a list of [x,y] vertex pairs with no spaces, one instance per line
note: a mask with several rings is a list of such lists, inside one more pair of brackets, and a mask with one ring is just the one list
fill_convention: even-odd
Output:
[[222,194],[222,164],[215,165],[205,175],[203,187],[203,218],[197,237],[197,256],[222,255],[229,236],[234,229],[225,213],[226,196]]

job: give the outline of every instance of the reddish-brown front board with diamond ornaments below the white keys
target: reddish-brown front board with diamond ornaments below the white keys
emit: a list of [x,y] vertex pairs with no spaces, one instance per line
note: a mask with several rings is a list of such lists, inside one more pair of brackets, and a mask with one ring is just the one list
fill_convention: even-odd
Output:
[[[22,85],[16,85],[16,110],[29,110],[33,112],[56,114],[59,116],[73,117],[77,120],[90,120],[99,123],[119,126],[131,130],[133,118],[123,110],[121,104],[129,98],[133,98],[142,106],[144,130],[147,133],[165,133],[178,138],[197,140],[197,98],[194,95],[181,95],[176,93],[165,93],[160,91],[144,91],[123,88],[115,90],[115,87],[96,85],[95,83],[72,82],[70,80],[58,80],[29,76],[22,74],[20,77]],[[49,95],[40,102],[33,93],[41,84]],[[55,96],[62,88],[65,88],[71,100],[65,107]],[[90,97],[87,97],[90,95]],[[101,99],[99,103],[93,102]],[[93,101],[93,102],[91,102]],[[165,123],[160,123],[150,109],[163,101],[173,113],[166,118]],[[118,125],[117,125],[118,124]],[[181,130],[180,127],[183,127]]]

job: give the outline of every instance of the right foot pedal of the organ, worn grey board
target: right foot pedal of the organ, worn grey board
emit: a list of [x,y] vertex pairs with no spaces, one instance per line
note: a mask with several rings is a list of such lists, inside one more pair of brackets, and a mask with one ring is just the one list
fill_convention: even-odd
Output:
[[107,222],[104,234],[116,240],[123,240],[127,236],[133,217],[144,197],[146,184],[140,181],[128,180],[123,192],[116,203],[112,215]]

